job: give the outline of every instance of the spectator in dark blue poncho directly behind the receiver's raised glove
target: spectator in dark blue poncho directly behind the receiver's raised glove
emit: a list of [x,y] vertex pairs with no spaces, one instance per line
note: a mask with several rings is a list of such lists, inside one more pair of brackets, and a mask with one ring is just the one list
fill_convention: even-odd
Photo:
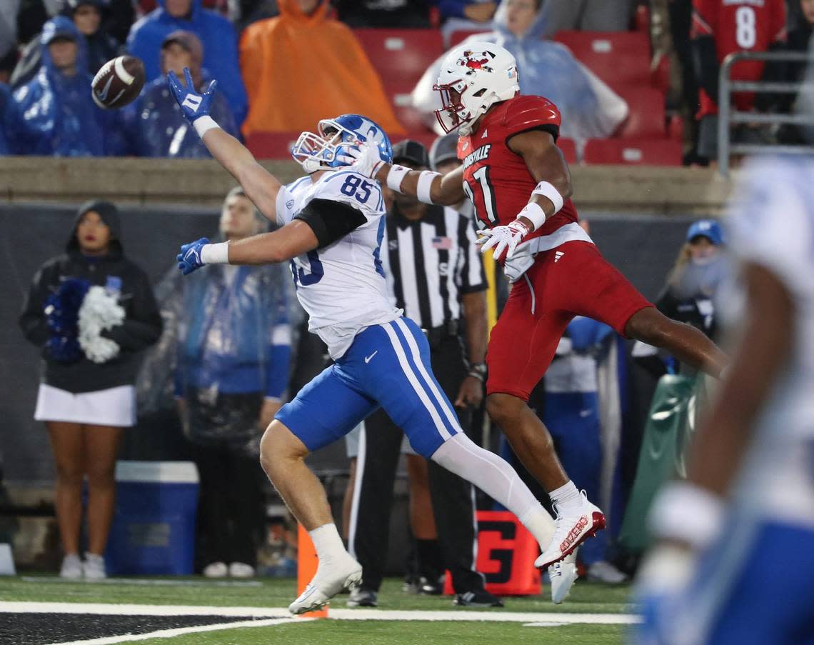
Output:
[[[203,59],[204,47],[194,33],[177,31],[164,38],[161,45],[162,76],[148,83],[141,96],[125,108],[123,119],[131,154],[184,159],[212,157],[195,129],[190,128],[164,78],[169,70],[183,78],[184,68],[189,68],[195,87],[203,91],[211,81],[206,70],[201,68]],[[209,113],[226,132],[238,136],[234,114],[220,92],[215,93]]]

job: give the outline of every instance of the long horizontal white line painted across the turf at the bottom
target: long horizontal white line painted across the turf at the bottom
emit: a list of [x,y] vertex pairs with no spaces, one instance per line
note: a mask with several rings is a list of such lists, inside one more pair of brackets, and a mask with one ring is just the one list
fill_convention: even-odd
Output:
[[[198,605],[142,605],[107,603],[18,603],[0,602],[0,613],[87,613],[110,616],[254,616],[276,620],[285,618],[287,608],[282,607],[204,607]],[[633,614],[595,614],[558,612],[478,612],[470,610],[422,611],[383,609],[330,608],[328,616],[339,621],[490,621],[490,622],[552,622],[574,625],[632,625],[640,621]],[[252,625],[259,625],[254,621]],[[234,623],[230,623],[234,625]],[[91,641],[88,641],[90,643]],[[118,642],[118,641],[116,641]],[[85,643],[85,641],[83,641]],[[96,643],[96,641],[93,641]],[[101,643],[101,642],[100,642]]]

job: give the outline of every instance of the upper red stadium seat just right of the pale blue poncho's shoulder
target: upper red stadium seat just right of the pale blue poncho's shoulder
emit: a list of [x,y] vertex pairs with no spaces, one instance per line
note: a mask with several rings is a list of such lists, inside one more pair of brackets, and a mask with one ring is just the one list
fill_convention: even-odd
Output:
[[625,85],[650,85],[650,42],[641,32],[561,31],[562,42],[597,77],[616,90]]

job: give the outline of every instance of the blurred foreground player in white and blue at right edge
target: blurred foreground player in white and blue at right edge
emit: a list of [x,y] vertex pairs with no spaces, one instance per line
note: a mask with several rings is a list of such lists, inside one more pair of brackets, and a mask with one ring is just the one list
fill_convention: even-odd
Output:
[[687,480],[655,502],[638,645],[814,643],[812,177],[811,158],[764,157],[736,193],[739,349]]

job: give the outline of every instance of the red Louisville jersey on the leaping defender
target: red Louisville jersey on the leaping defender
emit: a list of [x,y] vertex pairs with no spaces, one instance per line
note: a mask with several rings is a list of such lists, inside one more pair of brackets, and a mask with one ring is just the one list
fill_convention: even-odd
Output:
[[[545,129],[558,137],[560,113],[541,96],[515,96],[487,112],[478,129],[458,139],[458,158],[463,161],[463,189],[475,204],[475,216],[488,228],[508,224],[528,204],[537,180],[523,157],[506,141],[513,134]],[[549,235],[579,216],[567,200],[553,217],[526,239]]]

